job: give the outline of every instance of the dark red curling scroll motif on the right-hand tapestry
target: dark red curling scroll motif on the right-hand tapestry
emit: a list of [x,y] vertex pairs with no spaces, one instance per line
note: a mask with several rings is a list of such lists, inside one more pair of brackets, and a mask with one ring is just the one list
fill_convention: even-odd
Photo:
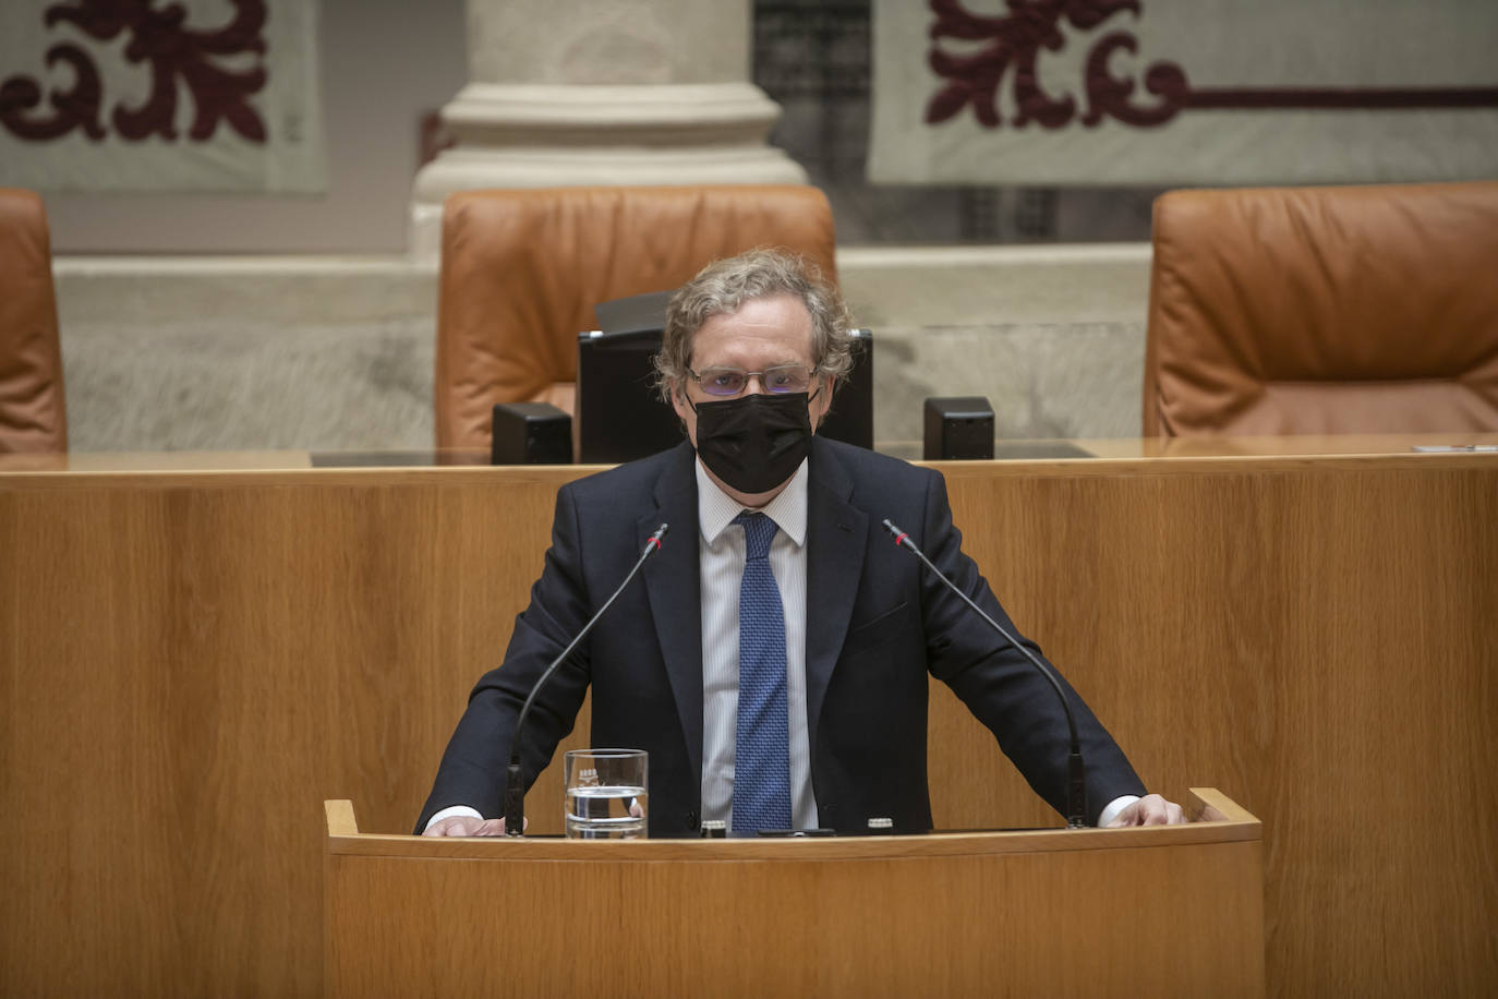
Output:
[[[987,42],[972,55],[953,55],[933,45],[930,67],[945,78],[947,85],[926,105],[926,123],[938,124],[971,106],[978,124],[996,129],[1002,123],[998,97],[1005,76],[1010,76],[1014,118],[1011,124],[1025,127],[1035,121],[1044,129],[1061,129],[1077,117],[1077,102],[1071,94],[1053,96],[1040,84],[1037,64],[1043,51],[1058,52],[1067,43],[1064,25],[1088,31],[1119,10],[1140,13],[1138,0],[1007,0],[1010,13],[980,16],[963,9],[960,0],[930,0],[936,22],[930,28],[932,42],[944,37],[965,42]],[[1109,57],[1119,48],[1137,48],[1132,34],[1115,31],[1092,46],[1088,55],[1088,111],[1082,123],[1095,126],[1104,117],[1129,124],[1161,124],[1180,105],[1174,96],[1174,81],[1185,81],[1179,66],[1156,63],[1146,73],[1146,90],[1167,97],[1155,108],[1129,103],[1134,81],[1113,76]],[[1152,85],[1153,84],[1153,85]],[[1161,87],[1156,90],[1155,85]]]

